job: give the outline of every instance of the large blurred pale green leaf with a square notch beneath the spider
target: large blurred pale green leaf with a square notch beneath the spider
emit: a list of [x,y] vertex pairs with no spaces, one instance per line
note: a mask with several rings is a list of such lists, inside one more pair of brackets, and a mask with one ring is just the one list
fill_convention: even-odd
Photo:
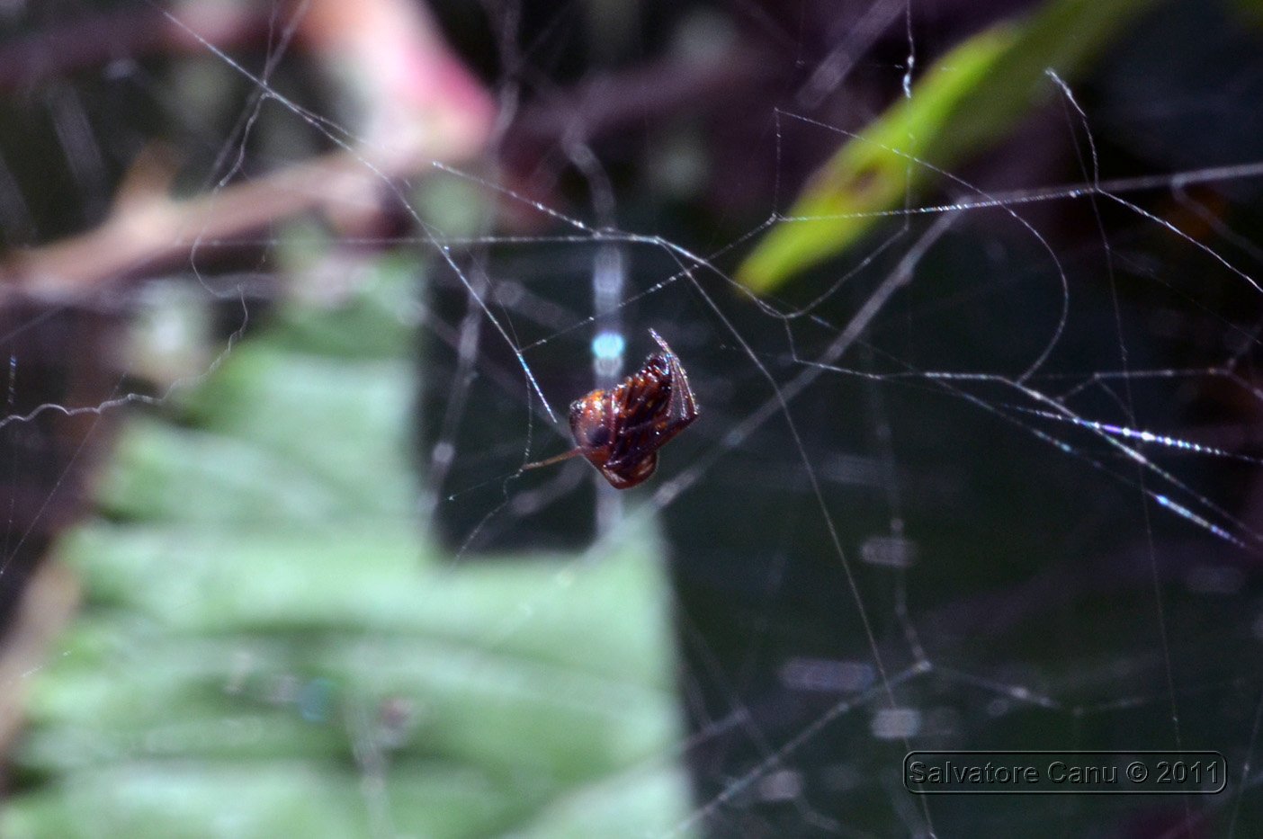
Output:
[[[652,534],[441,556],[416,521],[412,262],[287,303],[130,419],[59,558],[0,835],[620,836],[687,814]],[[409,315],[409,313],[413,313]]]

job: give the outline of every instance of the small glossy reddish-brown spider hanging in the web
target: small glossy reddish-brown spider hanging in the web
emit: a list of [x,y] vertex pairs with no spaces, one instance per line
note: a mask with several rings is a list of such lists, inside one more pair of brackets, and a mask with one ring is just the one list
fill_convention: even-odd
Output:
[[570,405],[575,448],[565,454],[528,463],[524,469],[551,466],[582,454],[615,490],[643,482],[658,468],[658,449],[697,419],[697,400],[676,353],[653,329],[661,347],[644,367],[614,390],[594,390]]

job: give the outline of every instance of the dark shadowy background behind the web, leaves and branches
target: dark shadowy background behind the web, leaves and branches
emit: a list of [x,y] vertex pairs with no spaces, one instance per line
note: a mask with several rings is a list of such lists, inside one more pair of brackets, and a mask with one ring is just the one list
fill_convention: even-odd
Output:
[[[921,69],[1037,4],[914,1],[911,18],[895,5],[878,14],[869,3],[436,1],[461,59],[515,107],[480,175],[518,196],[501,199],[504,238],[455,249],[456,265],[532,347],[527,358],[554,409],[594,385],[589,342],[602,327],[626,336],[625,372],[650,351],[649,327],[688,370],[702,416],[624,501],[655,505],[666,535],[682,751],[709,835],[925,835],[922,802],[898,772],[909,747],[1206,748],[1234,773],[1228,792],[1191,800],[938,797],[928,804],[938,835],[1209,836],[1230,823],[1252,835],[1263,824],[1244,768],[1257,763],[1263,708],[1263,293],[1249,279],[1259,271],[1260,192],[1244,169],[1194,183],[1181,173],[1263,160],[1257,13],[1244,3],[1158,4],[1072,82],[1086,120],[1052,96],[956,172],[989,193],[1090,184],[1086,129],[1103,179],[1153,178],[1123,193],[1148,216],[1068,189],[1012,204],[1045,247],[1004,208],[960,212],[836,368],[813,368],[937,217],[897,214],[774,296],[751,299],[729,279],[757,241],[744,237],[788,211],[844,139],[807,120],[856,131],[880,115],[902,95],[909,26]],[[8,43],[72,13],[145,20],[152,11],[33,8],[6,21]],[[820,63],[874,19],[850,72],[812,87]],[[145,74],[110,63],[38,77],[30,64],[10,66],[8,77],[0,68],[5,194],[24,207],[4,216],[9,254],[99,223],[153,136],[186,150],[177,182],[198,184],[224,148],[203,139],[202,124],[241,117],[240,107],[160,105],[136,79],[183,58],[120,38],[116,61],[140,62]],[[261,66],[266,39],[241,40],[242,61]],[[703,72],[681,59],[690,48],[722,58]],[[302,58],[283,62],[273,83],[322,96]],[[251,90],[231,73],[224,86],[229,102]],[[96,163],[68,165],[73,144],[53,139],[61,122],[30,107],[58,97],[87,103]],[[265,169],[265,139],[260,130],[241,141],[248,169]],[[312,131],[289,153],[328,148]],[[909,206],[969,198],[976,193],[940,184]],[[681,275],[667,249],[624,236],[553,241],[575,231],[530,201],[594,228],[661,237],[706,266]],[[386,241],[416,232],[402,208],[388,216]],[[528,241],[510,245],[510,235]],[[626,269],[613,314],[594,312],[601,249]],[[416,448],[434,531],[461,561],[590,544],[606,488],[580,461],[505,483],[528,434],[532,457],[568,439],[538,414],[504,341],[485,322],[471,326],[458,275],[424,243],[417,250],[431,274]],[[200,269],[250,278],[249,305],[263,322],[273,259],[268,247],[241,247]],[[509,285],[527,294],[494,298]],[[125,376],[93,347],[110,343],[133,288],[54,308],[6,303],[0,358],[18,356],[29,371],[6,413],[116,395]],[[1023,392],[1017,380],[1063,305],[1065,329]],[[240,326],[240,307],[236,298],[220,307],[224,337]],[[471,328],[475,363],[461,370],[453,336]],[[803,375],[799,390],[791,382]],[[1142,463],[1092,428],[1050,419],[1031,391],[1087,420],[1201,448],[1124,439]],[[730,439],[769,401],[765,421]],[[0,612],[82,508],[110,421],[49,414],[0,428],[9,464],[0,507],[10,510]],[[443,442],[456,457],[440,471],[429,454]],[[532,503],[514,503],[522,497]],[[892,544],[907,551],[906,566],[874,561]],[[906,737],[889,733],[899,720]]]

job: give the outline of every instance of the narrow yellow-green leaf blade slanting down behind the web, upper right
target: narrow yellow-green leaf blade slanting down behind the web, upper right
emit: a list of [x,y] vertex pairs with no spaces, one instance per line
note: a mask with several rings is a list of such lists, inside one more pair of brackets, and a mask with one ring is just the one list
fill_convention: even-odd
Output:
[[949,52],[882,116],[812,175],[798,199],[736,271],[774,291],[794,274],[855,245],[907,194],[995,145],[1056,92],[1048,72],[1081,74],[1157,0],[1051,0],[1017,24],[986,29]]

